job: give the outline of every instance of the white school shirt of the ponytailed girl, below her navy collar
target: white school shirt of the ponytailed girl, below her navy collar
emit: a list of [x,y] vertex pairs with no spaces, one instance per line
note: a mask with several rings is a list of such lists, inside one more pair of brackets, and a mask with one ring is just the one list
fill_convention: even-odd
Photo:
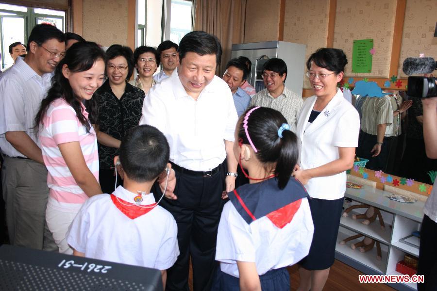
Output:
[[249,225],[228,201],[218,225],[216,260],[221,271],[237,278],[236,261],[255,262],[258,275],[264,275],[293,265],[308,255],[313,232],[307,198],[302,198],[293,220],[283,228],[276,227],[267,216]]

